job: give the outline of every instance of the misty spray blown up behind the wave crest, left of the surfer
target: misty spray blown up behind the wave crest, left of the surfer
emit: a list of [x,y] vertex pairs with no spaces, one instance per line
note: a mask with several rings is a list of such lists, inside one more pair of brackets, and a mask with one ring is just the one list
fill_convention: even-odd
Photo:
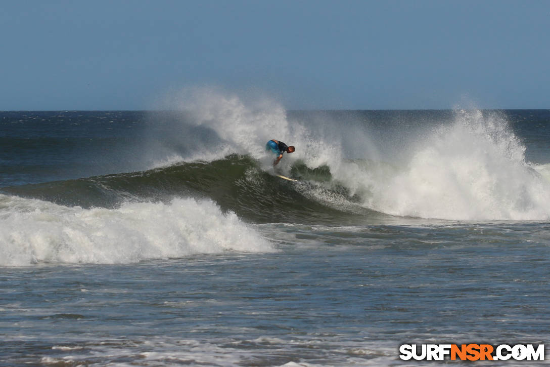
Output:
[[165,96],[159,107],[169,112],[153,114],[154,146],[149,150],[157,155],[157,166],[178,160],[211,161],[232,153],[261,158],[268,140],[292,139],[286,111],[268,99],[245,104],[219,88],[185,88]]

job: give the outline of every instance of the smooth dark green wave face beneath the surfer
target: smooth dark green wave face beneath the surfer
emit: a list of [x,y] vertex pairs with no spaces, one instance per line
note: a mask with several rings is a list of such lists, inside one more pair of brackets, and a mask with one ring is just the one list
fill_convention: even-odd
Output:
[[[64,206],[117,208],[125,202],[169,202],[174,197],[209,198],[224,211],[253,223],[355,224],[382,215],[354,204],[354,197],[331,183],[327,167],[309,169],[295,163],[289,182],[260,168],[250,156],[229,155],[211,162],[194,161],[163,168],[12,186],[4,193]],[[329,183],[327,185],[327,183]],[[322,191],[311,195],[312,191]],[[323,200],[326,197],[326,200]],[[342,205],[335,205],[335,198]]]

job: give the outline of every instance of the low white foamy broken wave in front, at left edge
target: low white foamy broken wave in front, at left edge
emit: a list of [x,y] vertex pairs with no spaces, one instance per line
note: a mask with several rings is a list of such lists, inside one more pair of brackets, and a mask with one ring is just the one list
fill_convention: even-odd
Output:
[[215,203],[174,198],[118,209],[64,207],[0,195],[0,265],[132,263],[223,251],[272,251],[270,243]]

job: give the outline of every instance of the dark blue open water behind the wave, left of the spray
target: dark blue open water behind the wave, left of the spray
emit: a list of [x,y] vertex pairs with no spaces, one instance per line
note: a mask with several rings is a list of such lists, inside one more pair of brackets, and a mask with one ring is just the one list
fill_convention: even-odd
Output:
[[0,186],[133,170],[143,112],[0,112]]

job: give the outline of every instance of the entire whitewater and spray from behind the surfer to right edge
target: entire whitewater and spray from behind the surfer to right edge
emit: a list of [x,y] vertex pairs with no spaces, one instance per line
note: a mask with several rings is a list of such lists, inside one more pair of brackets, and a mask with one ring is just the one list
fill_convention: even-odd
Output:
[[[189,155],[174,153],[174,161],[237,153],[260,160],[267,171],[263,145],[282,136],[300,147],[283,162],[285,173],[296,160],[310,169],[326,166],[333,181],[378,212],[448,220],[548,219],[548,166],[525,161],[524,144],[498,111],[456,109],[439,125],[408,121],[400,131],[373,132],[357,116],[337,121],[320,113],[309,124],[290,122],[273,102],[246,106],[235,95],[193,92],[186,90],[172,105],[186,116],[169,132],[186,136],[191,126],[212,131],[218,140],[210,139],[214,149],[200,142]],[[365,167],[365,161],[371,164]]]

